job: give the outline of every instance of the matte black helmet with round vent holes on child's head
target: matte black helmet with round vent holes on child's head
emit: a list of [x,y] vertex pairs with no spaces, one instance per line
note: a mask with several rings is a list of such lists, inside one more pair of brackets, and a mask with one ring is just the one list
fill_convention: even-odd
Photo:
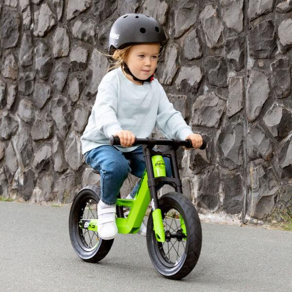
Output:
[[166,43],[162,25],[142,13],[128,13],[119,17],[110,29],[109,53],[131,44],[160,42],[160,52]]

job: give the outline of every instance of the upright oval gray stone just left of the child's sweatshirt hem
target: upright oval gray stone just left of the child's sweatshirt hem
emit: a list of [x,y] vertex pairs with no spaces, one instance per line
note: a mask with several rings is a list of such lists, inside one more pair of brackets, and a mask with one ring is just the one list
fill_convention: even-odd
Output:
[[82,151],[80,138],[73,132],[68,135],[65,146],[65,159],[67,164],[73,169],[77,170],[81,166]]

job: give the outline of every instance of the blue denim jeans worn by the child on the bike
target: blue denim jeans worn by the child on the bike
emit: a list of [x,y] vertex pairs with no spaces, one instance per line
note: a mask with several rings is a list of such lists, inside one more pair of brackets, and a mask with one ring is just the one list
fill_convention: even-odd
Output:
[[[142,145],[130,152],[123,152],[113,146],[103,145],[87,151],[84,155],[86,164],[100,172],[101,201],[110,205],[115,204],[120,188],[128,178],[129,173],[140,178],[130,194],[132,198],[135,196],[146,168]],[[172,177],[168,157],[164,157],[164,163],[166,176]],[[162,186],[162,184],[159,185],[157,190]]]

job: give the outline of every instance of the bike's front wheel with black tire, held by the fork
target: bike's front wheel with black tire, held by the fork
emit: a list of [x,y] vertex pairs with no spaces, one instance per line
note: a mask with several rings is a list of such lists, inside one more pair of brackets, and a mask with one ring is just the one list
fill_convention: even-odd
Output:
[[[164,243],[162,243],[156,240],[155,233],[153,231],[153,218],[151,211],[148,218],[146,234],[148,254],[155,269],[165,278],[176,280],[182,279],[187,274],[189,274],[196,266],[201,253],[202,244],[201,221],[199,219],[197,210],[194,207],[194,205],[191,203],[191,201],[189,201],[180,193],[169,192],[164,194],[159,199],[159,207],[162,211],[162,218],[164,220],[164,231],[165,236],[166,235],[168,236],[167,238],[168,242],[164,241]],[[174,218],[170,218],[168,215],[171,209],[175,210],[173,213]],[[169,223],[170,219],[173,220],[177,219],[178,212],[183,217],[184,220],[186,237],[183,237],[184,235],[183,229],[182,226],[177,225],[178,222],[175,221],[176,226],[173,225],[174,228],[171,228],[171,224]],[[173,235],[179,235],[180,237],[174,238],[172,237]],[[172,242],[172,240],[174,239],[178,241],[178,251],[176,251],[176,248],[174,246],[176,242]],[[170,245],[170,249],[169,241],[172,243],[172,246]],[[168,247],[167,253],[165,251],[166,242]],[[182,256],[179,256],[180,242],[182,242],[182,246],[185,247],[183,251],[183,247],[181,246],[181,250],[183,251]],[[183,244],[183,242],[185,244]],[[172,248],[174,248],[174,250],[177,252],[176,262],[170,259],[170,251]],[[179,261],[178,257],[180,258]]]

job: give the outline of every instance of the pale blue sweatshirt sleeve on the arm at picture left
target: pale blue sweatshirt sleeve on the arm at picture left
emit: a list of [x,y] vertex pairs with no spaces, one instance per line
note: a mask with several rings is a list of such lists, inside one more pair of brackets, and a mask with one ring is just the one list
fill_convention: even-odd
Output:
[[92,110],[94,110],[95,123],[99,131],[107,138],[116,132],[122,131],[117,112],[117,92],[109,82],[101,82]]

